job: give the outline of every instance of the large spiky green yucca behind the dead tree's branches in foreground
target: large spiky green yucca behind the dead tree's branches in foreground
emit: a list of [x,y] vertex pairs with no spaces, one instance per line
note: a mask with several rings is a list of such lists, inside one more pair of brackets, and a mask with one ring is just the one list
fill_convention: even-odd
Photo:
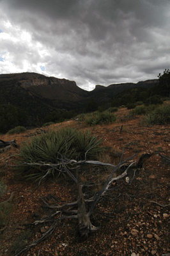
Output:
[[[71,127],[61,128],[58,131],[48,131],[35,136],[30,143],[25,142],[20,150],[17,169],[27,179],[41,179],[48,166],[45,164],[58,164],[61,157],[66,159],[85,159],[96,157],[101,152],[101,140],[92,136],[89,131],[77,131]],[[59,160],[60,159],[60,160]],[[40,163],[41,165],[37,165]],[[49,175],[58,175],[52,168]]]

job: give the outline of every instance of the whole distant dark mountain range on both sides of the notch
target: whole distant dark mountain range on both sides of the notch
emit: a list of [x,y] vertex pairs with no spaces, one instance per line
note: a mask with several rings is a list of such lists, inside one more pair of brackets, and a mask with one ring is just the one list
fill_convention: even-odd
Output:
[[89,100],[104,104],[114,95],[135,87],[151,88],[158,79],[135,83],[97,85],[91,91],[82,90],[75,81],[46,77],[36,73],[1,74],[0,105],[12,104],[29,115],[43,118],[54,109],[83,109]]

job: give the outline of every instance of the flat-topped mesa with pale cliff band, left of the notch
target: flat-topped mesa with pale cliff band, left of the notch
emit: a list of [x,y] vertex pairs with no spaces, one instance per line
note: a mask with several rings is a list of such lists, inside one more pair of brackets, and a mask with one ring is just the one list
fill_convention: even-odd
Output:
[[36,73],[0,75],[0,83],[18,84],[32,95],[50,100],[81,100],[88,92],[79,88],[75,81],[46,77]]

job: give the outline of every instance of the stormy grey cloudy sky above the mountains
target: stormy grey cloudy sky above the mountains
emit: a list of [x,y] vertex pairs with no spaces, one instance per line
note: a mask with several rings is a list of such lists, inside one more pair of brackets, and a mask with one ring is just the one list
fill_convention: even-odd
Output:
[[170,68],[170,0],[0,0],[0,74],[137,83]]

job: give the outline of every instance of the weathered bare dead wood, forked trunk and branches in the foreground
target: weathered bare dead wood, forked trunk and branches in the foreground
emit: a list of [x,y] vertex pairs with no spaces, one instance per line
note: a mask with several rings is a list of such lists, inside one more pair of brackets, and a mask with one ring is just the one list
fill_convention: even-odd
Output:
[[[135,154],[134,154],[135,156]],[[61,159],[61,163],[59,164],[55,164],[55,166],[60,166],[61,164],[63,165],[63,168],[65,170],[65,172],[75,181],[75,183],[77,184],[77,193],[78,193],[78,198],[76,202],[70,202],[68,204],[63,204],[63,205],[55,205],[55,208],[59,211],[56,211],[54,214],[48,216],[49,218],[44,218],[42,220],[38,220],[35,221],[35,225],[38,223],[45,223],[47,221],[50,220],[50,218],[56,216],[57,214],[60,214],[61,216],[59,216],[57,218],[57,220],[54,221],[54,223],[50,226],[49,230],[47,230],[47,232],[45,232],[45,234],[43,234],[42,237],[40,237],[40,239],[33,241],[33,243],[31,243],[29,246],[26,246],[26,248],[24,248],[22,251],[20,251],[19,253],[17,253],[17,255],[15,256],[19,256],[22,252],[26,252],[27,250],[29,250],[31,247],[35,246],[36,244],[40,243],[41,241],[43,241],[44,239],[46,239],[48,236],[50,236],[50,234],[52,234],[52,232],[54,232],[58,220],[61,219],[65,219],[65,218],[71,218],[71,219],[78,219],[79,221],[79,232],[81,233],[82,237],[87,237],[89,232],[93,231],[93,230],[97,230],[97,227],[94,227],[91,224],[90,221],[90,216],[93,212],[93,210],[95,209],[95,206],[97,205],[97,202],[100,200],[101,196],[104,196],[105,191],[108,190],[109,186],[111,186],[112,180],[115,180],[116,177],[113,178],[114,173],[121,168],[121,166],[124,166],[125,163],[127,163],[128,161],[130,161],[132,158],[134,158],[134,156],[132,157],[128,157],[127,159],[125,159],[124,161],[122,161],[122,157],[121,157],[121,161],[117,166],[114,166],[113,164],[107,164],[107,163],[101,163],[98,161],[74,161],[74,160],[64,160]],[[114,168],[114,170],[112,170],[111,175],[109,175],[109,177],[107,178],[103,188],[99,191],[99,193],[91,200],[84,200],[84,195],[82,193],[82,188],[81,188],[81,184],[79,181],[79,174],[78,174],[78,170],[77,170],[77,178],[70,172],[70,170],[68,170],[67,166],[68,163],[72,163],[72,164],[95,164],[95,165],[105,165],[105,166],[112,166]],[[134,162],[135,163],[135,162]],[[125,172],[123,172],[121,175],[119,175],[117,177],[117,179],[121,179],[121,177],[124,177],[124,175],[127,174],[127,170],[128,168],[130,168],[130,166],[132,166],[132,164],[134,163],[129,163],[127,166],[127,169],[125,170]],[[39,163],[38,163],[39,164]],[[49,167],[52,168],[52,166],[54,166],[54,164],[49,164]],[[47,170],[48,172],[48,170]],[[46,173],[45,173],[46,175]],[[43,200],[43,199],[42,199]],[[89,212],[87,213],[86,211],[86,202],[92,202],[91,207],[89,209]],[[45,202],[45,200],[43,200],[43,202]],[[48,206],[48,204],[45,202],[45,204]],[[77,211],[73,211],[72,207],[73,206],[77,206]],[[50,205],[49,205],[50,206]],[[64,207],[71,207],[71,209],[64,209]],[[63,216],[63,212],[66,212],[66,214],[71,214],[71,215],[65,215]]]

